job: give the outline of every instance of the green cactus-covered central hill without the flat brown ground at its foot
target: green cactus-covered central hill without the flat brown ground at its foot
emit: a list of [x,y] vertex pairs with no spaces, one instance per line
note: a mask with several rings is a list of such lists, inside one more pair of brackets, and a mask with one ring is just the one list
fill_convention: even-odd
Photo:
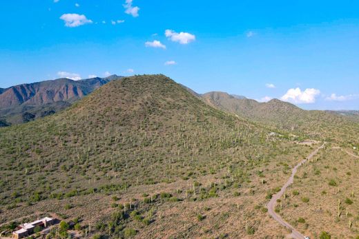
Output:
[[165,76],[111,81],[59,114],[0,129],[1,198],[208,173],[230,149],[262,147],[265,134]]

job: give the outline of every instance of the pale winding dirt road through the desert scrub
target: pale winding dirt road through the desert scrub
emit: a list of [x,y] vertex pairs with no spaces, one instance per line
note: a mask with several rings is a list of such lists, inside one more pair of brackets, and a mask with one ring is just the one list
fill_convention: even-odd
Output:
[[280,191],[277,194],[272,196],[268,205],[266,205],[269,215],[271,215],[274,220],[279,222],[280,225],[287,227],[287,229],[289,229],[291,231],[291,237],[295,238],[295,239],[304,239],[304,236],[302,235],[302,233],[297,231],[293,226],[291,226],[288,222],[283,220],[283,218],[281,216],[279,216],[278,214],[275,213],[275,211],[274,211],[275,205],[277,204],[277,200],[283,196],[287,187],[293,183],[294,175],[297,173],[298,167],[300,167],[303,163],[307,162],[307,160],[313,158],[313,156],[316,155],[318,153],[319,149],[322,149],[324,147],[324,145],[325,145],[325,143],[323,143],[322,146],[318,147],[318,149],[314,150],[306,159],[300,161],[300,163],[298,163],[298,165],[295,165],[295,167],[293,167],[291,177],[288,179],[287,183],[285,183],[283,185],[282,189],[280,189]]

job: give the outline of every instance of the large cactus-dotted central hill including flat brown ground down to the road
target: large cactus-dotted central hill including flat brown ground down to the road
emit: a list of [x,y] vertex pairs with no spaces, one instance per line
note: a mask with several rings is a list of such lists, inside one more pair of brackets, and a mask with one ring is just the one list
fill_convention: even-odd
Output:
[[0,222],[51,211],[110,238],[131,228],[137,238],[281,235],[254,207],[307,147],[267,134],[166,76],[111,81],[58,114],[0,129]]

